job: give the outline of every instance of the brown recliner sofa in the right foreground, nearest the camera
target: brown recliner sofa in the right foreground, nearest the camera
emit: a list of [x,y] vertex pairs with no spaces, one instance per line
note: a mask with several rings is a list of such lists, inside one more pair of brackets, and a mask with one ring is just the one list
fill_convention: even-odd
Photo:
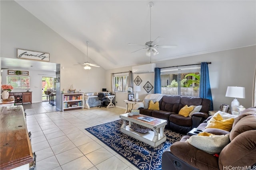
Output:
[[205,129],[206,125],[207,121],[201,123],[198,129],[215,135],[229,134],[231,142],[221,150],[219,157],[185,142],[191,137],[185,135],[162,154],[162,170],[231,170],[239,167],[256,169],[256,107],[242,111],[230,132],[215,128]]

